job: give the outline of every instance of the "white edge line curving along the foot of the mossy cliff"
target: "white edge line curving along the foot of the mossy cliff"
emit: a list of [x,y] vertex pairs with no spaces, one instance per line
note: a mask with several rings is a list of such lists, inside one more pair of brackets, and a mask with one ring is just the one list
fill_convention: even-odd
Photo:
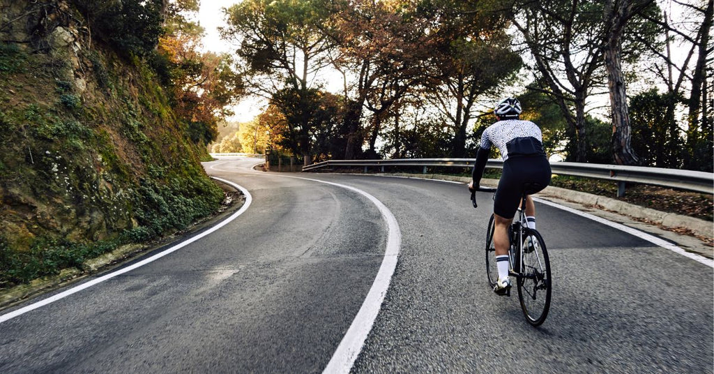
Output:
[[69,295],[75,294],[76,292],[79,292],[79,291],[81,291],[81,290],[85,290],[86,288],[89,288],[89,287],[91,287],[91,286],[93,286],[93,285],[97,285],[97,284],[99,284],[99,283],[101,283],[101,282],[104,282],[105,280],[109,280],[109,279],[111,279],[111,278],[113,278],[113,277],[116,277],[117,275],[122,275],[122,274],[124,274],[125,272],[130,272],[131,270],[134,270],[134,269],[136,269],[137,267],[142,267],[142,266],[148,264],[149,262],[154,262],[154,261],[156,261],[156,260],[159,260],[159,258],[164,257],[164,256],[166,256],[166,255],[169,255],[169,253],[171,253],[171,252],[175,252],[176,250],[178,250],[178,249],[180,249],[180,248],[182,248],[182,247],[185,247],[186,245],[189,245],[189,244],[191,244],[192,242],[195,242],[196,240],[199,240],[199,239],[201,239],[202,237],[205,237],[206,235],[212,234],[213,232],[215,232],[216,230],[218,230],[218,229],[220,229],[221,227],[225,226],[226,224],[228,224],[228,222],[231,222],[232,220],[235,220],[239,215],[242,215],[243,212],[246,212],[246,210],[248,210],[248,207],[251,205],[251,202],[253,201],[253,197],[251,196],[250,192],[248,192],[248,190],[246,190],[245,188],[239,186],[238,184],[235,184],[235,183],[233,183],[233,182],[230,182],[230,181],[228,181],[228,180],[226,180],[226,179],[221,179],[221,178],[216,178],[216,177],[211,177],[211,178],[216,179],[216,180],[218,180],[218,181],[221,181],[221,182],[223,182],[223,183],[229,184],[229,185],[231,185],[231,186],[233,186],[233,187],[236,187],[238,190],[240,190],[241,192],[243,192],[243,195],[246,196],[246,202],[243,203],[243,206],[241,207],[241,209],[238,210],[238,212],[233,213],[233,215],[231,215],[230,217],[228,217],[228,218],[226,218],[225,220],[221,221],[220,223],[218,223],[218,225],[215,225],[215,226],[211,227],[210,229],[208,229],[208,230],[206,230],[206,231],[204,231],[204,232],[201,232],[201,234],[196,235],[195,237],[191,237],[190,239],[188,239],[188,240],[186,240],[186,241],[180,242],[180,243],[178,243],[177,245],[174,245],[173,247],[171,247],[171,248],[169,248],[169,249],[167,249],[167,250],[164,250],[164,251],[162,251],[162,252],[157,253],[156,255],[153,255],[153,256],[151,256],[151,257],[146,258],[145,260],[141,260],[141,261],[139,261],[139,262],[136,262],[136,264],[134,264],[134,265],[131,265],[131,266],[128,266],[128,267],[124,267],[124,268],[122,268],[121,270],[117,270],[116,272],[110,272],[109,274],[103,275],[103,276],[101,276],[101,277],[99,277],[99,278],[96,278],[96,279],[94,279],[94,280],[90,280],[89,282],[82,283],[81,285],[78,285],[78,286],[76,286],[76,287],[72,287],[72,288],[70,288],[69,290],[65,290],[64,292],[60,292],[60,293],[58,293],[57,295],[54,295],[54,296],[51,296],[51,297],[47,297],[47,298],[44,299],[44,300],[40,300],[40,301],[38,301],[38,302],[34,302],[33,304],[27,305],[26,307],[21,307],[21,308],[18,309],[18,310],[14,310],[14,311],[12,311],[12,312],[10,312],[10,313],[6,313],[6,314],[4,314],[4,315],[0,315],[0,323],[4,323],[6,320],[10,320],[10,319],[15,318],[15,317],[17,317],[17,316],[19,316],[19,315],[23,315],[23,314],[25,314],[25,313],[28,313],[28,312],[31,311],[31,310],[35,310],[35,309],[37,309],[37,308],[39,308],[39,307],[43,307],[44,305],[51,304],[52,302],[55,302],[55,301],[57,301],[57,300],[64,299],[64,297],[67,297],[67,296],[69,296]]

